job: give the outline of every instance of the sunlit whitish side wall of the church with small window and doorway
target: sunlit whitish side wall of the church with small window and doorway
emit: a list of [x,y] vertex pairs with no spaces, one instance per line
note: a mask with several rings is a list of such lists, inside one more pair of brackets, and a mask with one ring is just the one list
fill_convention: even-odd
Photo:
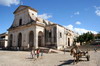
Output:
[[[60,33],[62,34],[62,37],[60,38]],[[71,35],[67,35],[67,33],[70,33]],[[68,47],[68,38],[70,39],[70,46],[73,45],[74,41],[74,33],[70,30],[66,30],[66,28],[57,25],[57,46],[58,49]]]

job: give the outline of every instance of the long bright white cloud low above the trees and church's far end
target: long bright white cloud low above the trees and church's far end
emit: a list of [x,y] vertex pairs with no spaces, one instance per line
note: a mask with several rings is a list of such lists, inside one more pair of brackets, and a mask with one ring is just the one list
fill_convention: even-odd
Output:
[[92,32],[92,33],[94,33],[94,34],[97,34],[97,32],[96,31],[93,31],[93,30],[87,30],[87,29],[84,29],[84,28],[75,28],[73,25],[67,25],[67,26],[65,26],[67,29],[70,29],[70,30],[72,30],[72,31],[74,31],[74,32],[76,32],[76,33],[78,33],[78,34],[83,34],[83,33],[86,33],[86,32]]

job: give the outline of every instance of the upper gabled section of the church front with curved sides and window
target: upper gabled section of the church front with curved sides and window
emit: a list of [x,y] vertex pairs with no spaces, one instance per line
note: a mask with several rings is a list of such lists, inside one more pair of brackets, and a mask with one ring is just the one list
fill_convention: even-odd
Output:
[[13,14],[14,22],[12,26],[18,27],[31,22],[32,19],[35,20],[35,18],[37,17],[37,10],[29,6],[20,5]]

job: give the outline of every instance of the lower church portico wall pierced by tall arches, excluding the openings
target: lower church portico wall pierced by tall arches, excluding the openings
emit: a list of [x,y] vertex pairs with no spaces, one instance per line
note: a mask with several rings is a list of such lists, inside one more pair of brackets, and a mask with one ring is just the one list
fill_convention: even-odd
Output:
[[[42,44],[44,46],[44,27],[40,27],[40,26],[30,26],[30,27],[26,27],[26,28],[22,28],[22,29],[16,29],[16,30],[11,30],[9,31],[9,37],[10,35],[13,35],[13,40],[12,40],[12,47],[14,49],[16,49],[16,47],[18,47],[18,35],[22,34],[22,43],[21,43],[21,49],[28,49],[29,48],[29,34],[30,32],[33,32],[34,34],[34,47],[38,48],[38,35],[39,32],[42,32],[43,34],[43,39],[42,39]],[[10,41],[10,39],[9,39]],[[10,43],[10,42],[9,42]]]

